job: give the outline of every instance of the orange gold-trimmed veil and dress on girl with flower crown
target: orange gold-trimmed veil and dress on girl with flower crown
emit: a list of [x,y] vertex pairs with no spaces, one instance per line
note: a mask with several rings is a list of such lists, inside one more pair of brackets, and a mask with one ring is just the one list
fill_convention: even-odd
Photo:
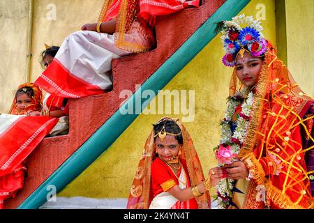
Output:
[[[240,86],[241,88],[241,86]],[[234,69],[230,95],[237,90]],[[267,53],[255,90],[251,119],[239,157],[253,174],[250,181],[238,180],[236,187],[246,194],[235,194],[233,202],[241,208],[260,208],[256,202],[257,186],[267,194],[266,204],[277,208],[312,208],[309,174],[304,161],[307,151],[313,150],[313,136],[304,117],[313,105],[301,91],[292,75],[276,56],[276,49],[267,43]],[[304,148],[300,130],[310,146]],[[312,146],[311,146],[312,145]],[[242,185],[242,187],[241,187]],[[246,185],[246,186],[244,186]]]

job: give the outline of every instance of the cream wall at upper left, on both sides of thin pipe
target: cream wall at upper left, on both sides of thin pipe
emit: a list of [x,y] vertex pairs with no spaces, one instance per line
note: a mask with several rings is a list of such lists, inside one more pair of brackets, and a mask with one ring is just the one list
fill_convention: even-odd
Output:
[[[80,30],[83,24],[96,22],[102,6],[103,0],[33,0],[31,82],[43,72],[39,60],[45,43],[61,45],[68,34]],[[17,86],[27,81],[29,0],[1,0],[0,15],[0,113],[3,113],[8,112]]]

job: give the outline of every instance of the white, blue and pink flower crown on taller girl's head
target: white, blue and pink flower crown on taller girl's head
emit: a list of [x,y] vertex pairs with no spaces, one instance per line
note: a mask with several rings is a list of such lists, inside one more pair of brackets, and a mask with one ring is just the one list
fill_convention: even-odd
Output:
[[[241,28],[240,24],[248,26]],[[244,51],[247,51],[252,56],[262,56],[267,51],[267,41],[260,24],[259,20],[244,14],[233,17],[232,21],[223,22],[221,40],[226,52],[222,59],[225,66],[233,67],[238,53],[243,56]]]

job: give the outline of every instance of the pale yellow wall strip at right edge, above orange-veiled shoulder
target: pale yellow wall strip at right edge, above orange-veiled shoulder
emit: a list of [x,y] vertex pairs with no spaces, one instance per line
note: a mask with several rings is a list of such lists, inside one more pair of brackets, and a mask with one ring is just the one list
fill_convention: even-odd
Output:
[[314,98],[314,1],[285,3],[288,68],[301,89]]

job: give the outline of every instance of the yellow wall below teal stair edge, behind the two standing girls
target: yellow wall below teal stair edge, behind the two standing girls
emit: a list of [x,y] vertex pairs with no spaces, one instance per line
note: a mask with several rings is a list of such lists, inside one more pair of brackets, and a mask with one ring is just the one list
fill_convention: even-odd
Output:
[[[267,6],[267,20],[262,21],[264,36],[276,44],[274,1],[263,2]],[[243,13],[255,16],[257,3],[259,1],[251,1]],[[222,56],[218,36],[165,86],[169,90],[195,90],[195,120],[184,125],[194,141],[204,174],[207,174],[209,167],[216,165],[212,148],[219,141],[218,121],[223,118],[232,72],[231,68],[220,63]],[[151,103],[155,102],[153,100]],[[58,196],[128,197],[151,124],[160,117],[140,114],[119,139]],[[177,117],[182,119],[182,116]]]

